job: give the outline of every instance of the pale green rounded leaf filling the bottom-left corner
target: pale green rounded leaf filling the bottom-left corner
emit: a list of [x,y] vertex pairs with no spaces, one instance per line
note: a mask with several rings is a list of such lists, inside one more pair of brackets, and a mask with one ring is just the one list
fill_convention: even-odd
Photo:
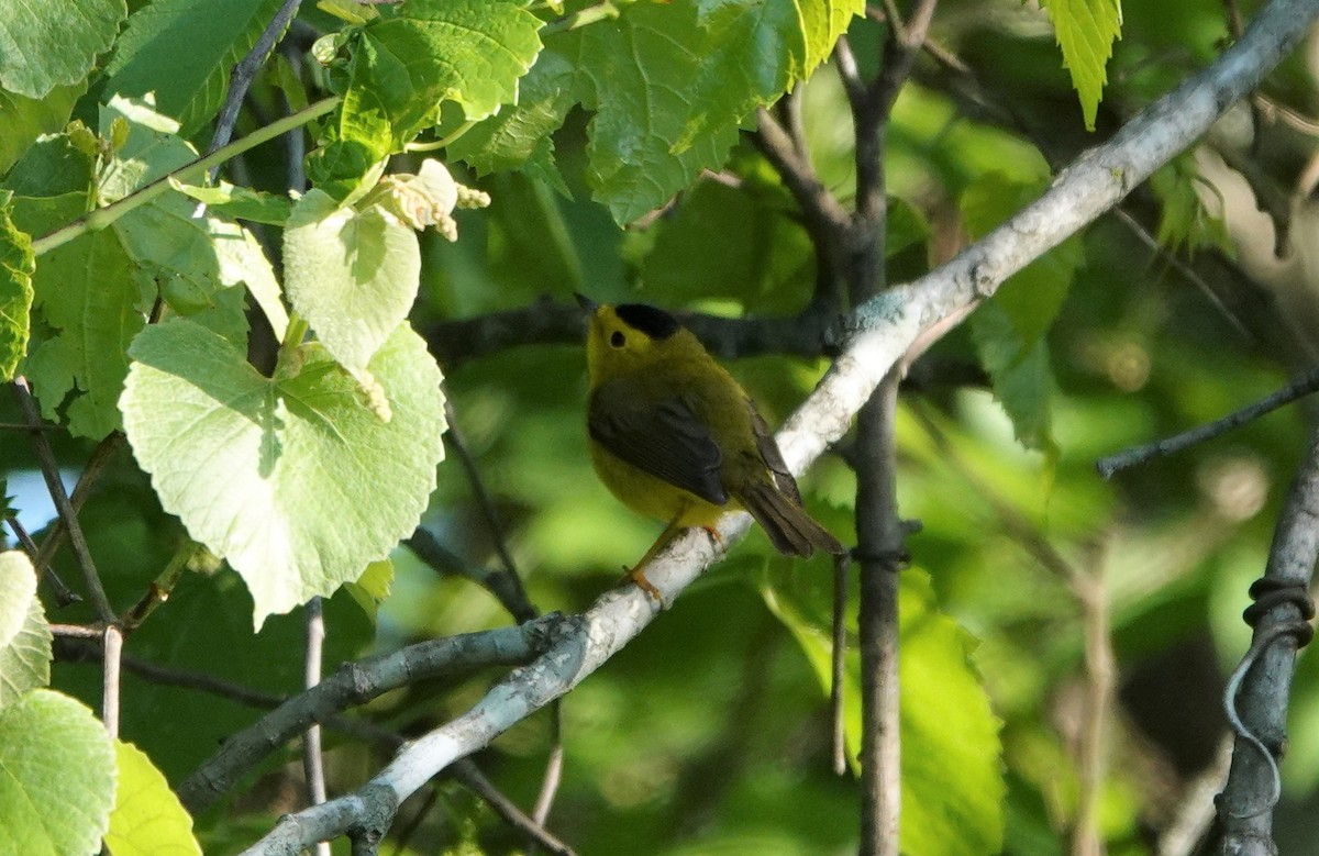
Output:
[[0,711],[0,852],[100,848],[115,803],[115,753],[80,702],[34,690]]

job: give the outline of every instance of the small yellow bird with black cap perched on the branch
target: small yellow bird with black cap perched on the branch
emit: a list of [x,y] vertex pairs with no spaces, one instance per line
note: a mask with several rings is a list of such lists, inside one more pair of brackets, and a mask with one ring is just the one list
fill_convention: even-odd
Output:
[[591,463],[625,505],[667,524],[630,571],[637,586],[658,599],[646,562],[679,529],[716,534],[719,516],[736,509],[751,512],[780,553],[847,553],[802,510],[765,419],[691,331],[654,306],[576,299],[591,315]]

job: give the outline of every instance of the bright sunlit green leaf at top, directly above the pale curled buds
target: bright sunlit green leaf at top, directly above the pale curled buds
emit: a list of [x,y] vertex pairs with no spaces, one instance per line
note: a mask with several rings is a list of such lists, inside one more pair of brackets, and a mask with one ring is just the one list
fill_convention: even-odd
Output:
[[[520,3],[410,0],[340,41],[347,83],[331,138],[375,156],[400,152],[435,124],[441,102],[484,119],[517,99],[541,51],[541,21]],[[371,158],[368,158],[371,160]]]

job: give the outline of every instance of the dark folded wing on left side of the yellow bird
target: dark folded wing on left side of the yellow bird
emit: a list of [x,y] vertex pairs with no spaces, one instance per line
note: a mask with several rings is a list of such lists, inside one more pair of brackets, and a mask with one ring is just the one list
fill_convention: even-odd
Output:
[[596,404],[587,429],[607,451],[707,503],[728,501],[719,479],[719,446],[682,401],[669,398],[641,408]]

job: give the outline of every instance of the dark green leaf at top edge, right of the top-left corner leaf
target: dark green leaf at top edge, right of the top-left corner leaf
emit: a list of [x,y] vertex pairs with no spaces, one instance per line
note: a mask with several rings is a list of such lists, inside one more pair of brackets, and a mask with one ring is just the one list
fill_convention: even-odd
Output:
[[193,136],[224,103],[230,73],[278,12],[282,0],[154,0],[128,18],[115,45],[107,91],[140,98]]

